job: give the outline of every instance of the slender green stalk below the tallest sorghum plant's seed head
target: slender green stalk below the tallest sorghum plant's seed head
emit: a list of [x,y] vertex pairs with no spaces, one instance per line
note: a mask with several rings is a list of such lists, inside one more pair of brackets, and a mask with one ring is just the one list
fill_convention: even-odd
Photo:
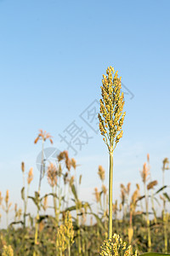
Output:
[[113,189],[113,152],[110,153],[110,168],[109,168],[109,239],[112,237],[112,189]]

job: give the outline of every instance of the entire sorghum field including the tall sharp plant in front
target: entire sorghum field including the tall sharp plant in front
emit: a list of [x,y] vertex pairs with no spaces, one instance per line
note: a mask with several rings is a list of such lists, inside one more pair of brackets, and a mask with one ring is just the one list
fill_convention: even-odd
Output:
[[[120,184],[120,199],[112,200],[113,152],[122,137],[124,96],[121,78],[113,67],[108,67],[101,86],[99,130],[110,154],[109,189],[105,182],[105,170],[99,166],[99,188],[94,188],[96,206],[81,201],[82,176],[77,173],[77,160],[65,150],[56,155],[54,162],[44,157],[44,145],[53,144],[46,131],[39,131],[34,143],[42,143],[42,159],[38,189],[30,195],[33,169],[26,173],[21,163],[23,186],[20,189],[23,208],[14,206],[14,221],[8,223],[11,209],[9,191],[0,193],[1,211],[6,213],[7,229],[0,230],[0,250],[8,255],[137,255],[144,252],[168,253],[170,218],[167,207],[170,202],[168,185],[164,181],[169,161],[162,162],[162,185],[151,175],[150,154],[140,172],[143,188],[139,183],[131,191],[131,183]],[[27,177],[26,177],[27,176]],[[42,178],[46,178],[51,193],[42,194]],[[53,204],[48,203],[52,198]],[[29,212],[32,201],[37,208],[34,216]],[[161,215],[156,212],[157,205]],[[53,208],[54,214],[48,214]],[[96,209],[94,211],[94,208]],[[128,247],[124,244],[127,242]]]

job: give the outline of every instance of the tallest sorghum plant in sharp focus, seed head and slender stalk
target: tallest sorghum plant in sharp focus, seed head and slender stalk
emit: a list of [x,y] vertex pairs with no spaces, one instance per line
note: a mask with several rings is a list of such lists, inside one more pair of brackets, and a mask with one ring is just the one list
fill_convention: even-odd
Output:
[[125,117],[123,113],[124,95],[121,93],[121,78],[118,78],[113,67],[108,67],[106,76],[103,75],[100,113],[99,113],[99,130],[104,137],[103,140],[107,145],[110,154],[110,174],[109,174],[109,238],[112,237],[112,183],[113,183],[113,151],[116,144],[122,137],[122,125]]

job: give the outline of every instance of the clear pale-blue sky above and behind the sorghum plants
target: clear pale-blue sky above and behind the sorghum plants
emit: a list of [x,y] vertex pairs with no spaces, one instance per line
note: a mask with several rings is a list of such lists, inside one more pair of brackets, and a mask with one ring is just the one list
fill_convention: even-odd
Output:
[[[118,70],[128,92],[124,134],[114,157],[114,193],[120,194],[120,183],[140,181],[147,153],[161,186],[161,161],[170,157],[169,9],[169,0],[0,0],[3,196],[9,189],[11,201],[20,203],[21,161],[26,172],[33,166],[32,193],[37,189],[38,130],[50,132],[54,148],[63,150],[59,134],[75,120],[92,137],[76,156],[69,150],[81,165],[82,198],[92,200],[91,191],[100,187],[98,166],[107,171],[108,154],[80,114],[93,102],[98,106],[108,66]],[[44,180],[42,193],[47,189]]]

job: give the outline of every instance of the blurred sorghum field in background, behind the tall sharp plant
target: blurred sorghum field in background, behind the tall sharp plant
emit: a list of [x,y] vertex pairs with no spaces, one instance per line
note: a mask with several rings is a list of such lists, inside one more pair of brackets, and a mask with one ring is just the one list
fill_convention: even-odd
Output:
[[[40,141],[41,140],[41,141]],[[50,140],[43,131],[38,134],[35,143]],[[164,183],[164,174],[169,169],[168,159],[162,161],[162,185],[158,186],[150,171],[150,155],[146,157],[140,173],[143,188],[131,183],[120,184],[120,198],[114,201],[113,233],[119,234],[123,241],[131,244],[133,253],[170,251],[170,217],[167,207],[170,202],[168,184]],[[105,170],[99,166],[99,187],[94,188],[97,211],[93,211],[88,201],[81,201],[77,191],[81,189],[83,177],[77,175],[77,161],[70,159],[67,151],[56,155],[56,162],[47,163],[43,159],[38,191],[30,195],[33,179],[32,168],[27,173],[25,163],[21,163],[20,175],[23,175],[23,187],[20,196],[22,209],[10,201],[10,190],[0,194],[0,211],[6,213],[7,229],[0,230],[1,255],[99,255],[100,247],[108,236],[108,189]],[[48,171],[45,175],[45,168]],[[142,169],[142,166],[141,166]],[[151,178],[152,177],[152,178]],[[41,181],[47,178],[51,187],[50,194],[42,194]],[[53,204],[48,199],[53,198]],[[37,207],[37,215],[29,212],[29,203]],[[14,206],[14,220],[8,223],[8,212]],[[161,208],[161,215],[155,208]],[[51,207],[53,215],[48,215]],[[87,221],[88,218],[88,221]],[[90,219],[90,221],[89,221]],[[105,254],[107,255],[107,254]],[[108,254],[110,255],[110,254]]]

